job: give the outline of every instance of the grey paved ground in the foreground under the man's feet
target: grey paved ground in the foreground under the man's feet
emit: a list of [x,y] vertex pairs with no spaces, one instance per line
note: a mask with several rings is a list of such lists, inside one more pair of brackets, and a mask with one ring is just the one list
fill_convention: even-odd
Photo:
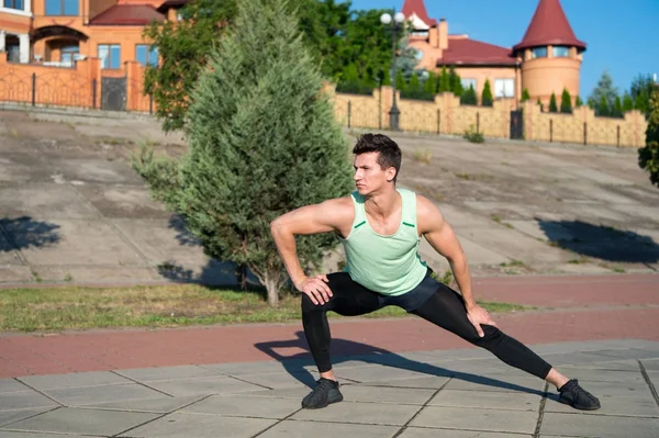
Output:
[[[0,380],[0,437],[659,436],[659,342],[533,349],[600,397],[579,412],[487,351],[335,357],[345,400],[301,409],[309,359],[121,369]],[[62,435],[63,434],[63,435]]]

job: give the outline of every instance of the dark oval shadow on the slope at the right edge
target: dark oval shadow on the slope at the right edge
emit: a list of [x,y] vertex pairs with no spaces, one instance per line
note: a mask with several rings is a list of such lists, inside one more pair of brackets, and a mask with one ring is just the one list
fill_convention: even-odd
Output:
[[629,263],[659,261],[659,245],[649,236],[582,221],[536,221],[551,243],[583,256]]

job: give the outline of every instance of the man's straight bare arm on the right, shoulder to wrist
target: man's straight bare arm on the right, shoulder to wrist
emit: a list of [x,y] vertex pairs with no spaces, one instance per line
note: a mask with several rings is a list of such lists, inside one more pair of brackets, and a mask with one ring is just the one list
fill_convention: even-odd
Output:
[[428,244],[448,260],[467,310],[476,307],[467,256],[442,212],[427,198],[416,196],[417,224]]

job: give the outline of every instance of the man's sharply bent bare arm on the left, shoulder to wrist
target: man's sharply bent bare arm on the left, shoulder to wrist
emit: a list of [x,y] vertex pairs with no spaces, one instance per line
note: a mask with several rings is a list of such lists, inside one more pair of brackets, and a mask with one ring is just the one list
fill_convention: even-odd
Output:
[[270,223],[277,250],[295,288],[301,289],[306,279],[298,258],[295,235],[336,232],[345,236],[354,216],[353,201],[338,198],[293,210]]

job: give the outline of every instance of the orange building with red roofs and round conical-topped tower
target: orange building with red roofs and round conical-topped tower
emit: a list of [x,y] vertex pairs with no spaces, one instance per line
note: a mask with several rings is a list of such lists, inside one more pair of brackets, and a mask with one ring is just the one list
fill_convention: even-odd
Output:
[[405,0],[402,12],[412,25],[410,46],[420,52],[418,67],[439,71],[453,66],[462,87],[473,86],[479,100],[488,79],[495,99],[518,101],[525,88],[530,99],[545,104],[552,92],[560,101],[563,88],[572,99],[579,94],[585,43],[574,36],[559,0],[539,0],[526,34],[514,47],[449,34],[448,22],[431,19],[423,0]]

